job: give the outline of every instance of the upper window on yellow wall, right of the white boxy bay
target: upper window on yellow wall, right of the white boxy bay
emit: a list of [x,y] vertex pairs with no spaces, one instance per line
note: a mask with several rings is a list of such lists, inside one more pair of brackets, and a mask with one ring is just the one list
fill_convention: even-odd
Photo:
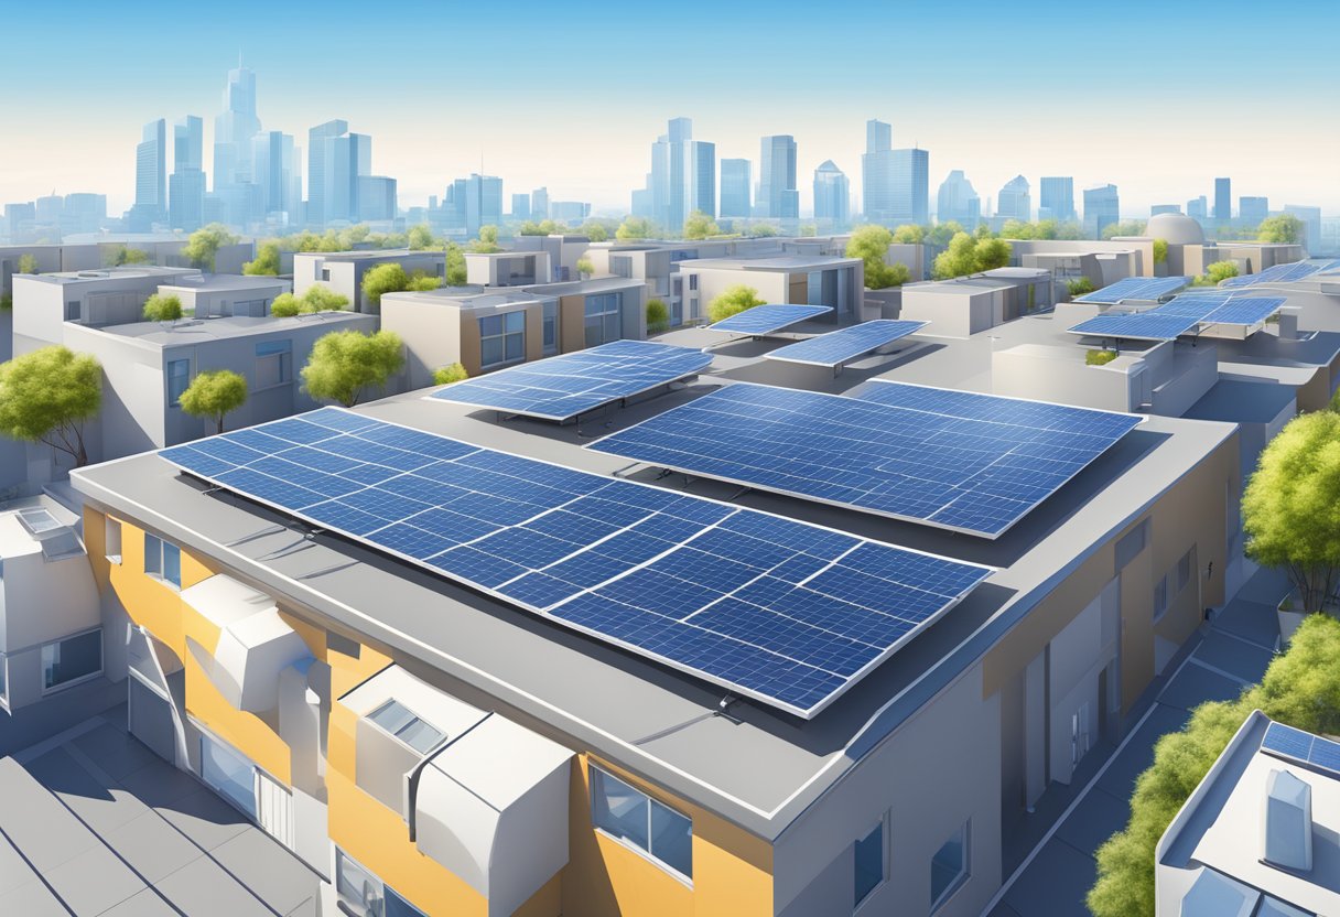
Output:
[[610,837],[693,879],[693,820],[596,767],[591,768],[591,820]]

